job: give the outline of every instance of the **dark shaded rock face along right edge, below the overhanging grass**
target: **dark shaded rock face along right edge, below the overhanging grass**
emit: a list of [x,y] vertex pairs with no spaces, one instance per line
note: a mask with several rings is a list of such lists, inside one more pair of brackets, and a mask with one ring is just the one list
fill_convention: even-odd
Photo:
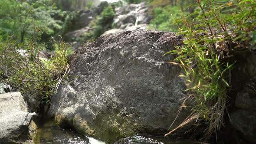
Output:
[[256,55],[247,53],[236,59],[232,80],[238,92],[233,98],[235,106],[230,113],[230,123],[243,141],[256,144]]

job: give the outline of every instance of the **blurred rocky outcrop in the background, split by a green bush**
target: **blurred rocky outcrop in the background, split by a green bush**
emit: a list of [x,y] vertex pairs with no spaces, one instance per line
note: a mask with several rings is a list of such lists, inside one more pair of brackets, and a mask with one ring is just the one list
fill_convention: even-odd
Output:
[[[108,2],[102,2],[98,7],[91,10],[80,10],[74,17],[69,20],[66,30],[62,38],[69,43],[81,41],[86,34],[92,33],[94,28],[89,26],[95,16],[100,15],[105,7],[110,6]],[[113,6],[114,7],[114,6]],[[116,16],[112,29],[105,29],[102,35],[120,33],[126,30],[146,29],[152,16],[148,12],[146,3],[130,4],[115,8]],[[110,26],[111,27],[111,26]],[[73,49],[79,48],[81,45],[73,45]]]

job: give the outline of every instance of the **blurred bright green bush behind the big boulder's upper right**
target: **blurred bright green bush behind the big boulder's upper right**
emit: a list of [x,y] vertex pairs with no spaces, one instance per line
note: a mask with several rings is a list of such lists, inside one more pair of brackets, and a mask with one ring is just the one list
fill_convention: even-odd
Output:
[[[177,32],[184,23],[175,23],[176,19],[181,19],[194,12],[194,7],[187,7],[195,3],[195,0],[150,0],[150,13],[154,16],[148,29],[167,32]],[[190,20],[193,20],[191,17]]]

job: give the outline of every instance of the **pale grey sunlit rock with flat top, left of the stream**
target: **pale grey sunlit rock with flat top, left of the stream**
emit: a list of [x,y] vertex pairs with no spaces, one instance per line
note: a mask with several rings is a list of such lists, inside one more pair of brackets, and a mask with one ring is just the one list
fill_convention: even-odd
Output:
[[26,140],[31,117],[20,92],[0,94],[0,144]]

